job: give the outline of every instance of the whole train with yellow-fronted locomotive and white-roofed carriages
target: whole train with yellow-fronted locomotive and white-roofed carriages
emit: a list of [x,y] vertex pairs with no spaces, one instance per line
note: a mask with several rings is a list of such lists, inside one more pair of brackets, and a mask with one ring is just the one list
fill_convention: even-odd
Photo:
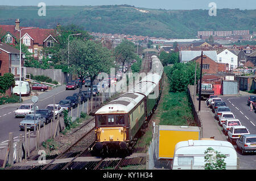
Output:
[[131,150],[147,127],[162,92],[163,66],[152,56],[150,72],[133,87],[95,113],[96,151]]

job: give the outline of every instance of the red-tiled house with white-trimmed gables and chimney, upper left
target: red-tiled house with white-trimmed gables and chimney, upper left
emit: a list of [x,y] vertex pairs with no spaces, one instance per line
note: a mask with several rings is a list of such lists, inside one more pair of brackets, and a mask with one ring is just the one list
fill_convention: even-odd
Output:
[[22,44],[26,45],[28,51],[32,53],[35,60],[42,60],[43,56],[51,57],[46,51],[48,47],[54,47],[57,40],[54,38],[56,32],[54,29],[44,29],[44,28],[32,28],[25,29],[28,27],[20,27],[19,19],[15,20],[15,25],[0,25],[0,41],[16,45],[19,43],[19,35],[21,31],[21,41]]

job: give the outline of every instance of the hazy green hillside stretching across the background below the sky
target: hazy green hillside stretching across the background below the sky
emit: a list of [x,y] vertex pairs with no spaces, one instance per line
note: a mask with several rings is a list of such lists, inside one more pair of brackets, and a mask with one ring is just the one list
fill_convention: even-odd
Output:
[[[124,33],[166,38],[195,37],[197,31],[256,31],[256,10],[217,9],[217,16],[208,10],[144,9],[129,5],[47,6],[46,16],[38,16],[37,6],[0,6],[0,24],[54,28],[76,24],[90,32]],[[145,10],[147,12],[142,12]]]

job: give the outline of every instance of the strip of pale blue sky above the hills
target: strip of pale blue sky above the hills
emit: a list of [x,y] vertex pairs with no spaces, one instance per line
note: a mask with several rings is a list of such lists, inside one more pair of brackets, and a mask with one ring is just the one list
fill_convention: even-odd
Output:
[[38,6],[39,2],[46,6],[97,6],[97,5],[132,5],[150,9],[192,10],[210,9],[210,2],[216,3],[217,9],[256,9],[256,0],[0,0],[0,5]]

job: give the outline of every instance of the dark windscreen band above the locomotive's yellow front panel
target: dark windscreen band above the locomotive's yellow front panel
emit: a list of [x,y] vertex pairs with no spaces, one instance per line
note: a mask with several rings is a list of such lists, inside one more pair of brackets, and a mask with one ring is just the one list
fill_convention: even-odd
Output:
[[97,115],[97,125],[121,125],[125,124],[125,115]]

